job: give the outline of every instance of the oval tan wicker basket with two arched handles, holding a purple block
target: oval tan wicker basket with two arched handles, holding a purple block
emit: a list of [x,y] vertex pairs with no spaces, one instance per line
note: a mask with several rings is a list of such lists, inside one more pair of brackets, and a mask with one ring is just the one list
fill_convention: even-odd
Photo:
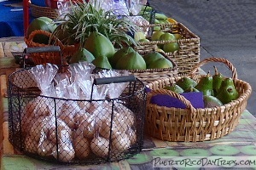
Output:
[[[239,98],[222,106],[195,109],[189,100],[182,95],[163,89],[166,85],[177,82],[181,77],[171,77],[152,82],[148,84],[149,88],[153,90],[148,93],[145,122],[146,132],[150,136],[167,141],[196,142],[219,139],[235,129],[241,113],[246,108],[252,88],[247,82],[237,79],[236,68],[228,60],[221,58],[204,59],[195,65],[190,77],[198,82],[201,76],[195,74],[195,71],[201,65],[212,61],[224,63],[232,71],[236,90],[240,94]],[[155,94],[167,94],[180,99],[187,109],[151,104],[149,101]]]

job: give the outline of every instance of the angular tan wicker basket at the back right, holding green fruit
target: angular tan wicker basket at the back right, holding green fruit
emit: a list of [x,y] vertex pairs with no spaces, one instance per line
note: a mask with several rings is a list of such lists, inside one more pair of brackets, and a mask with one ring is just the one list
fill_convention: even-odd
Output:
[[156,48],[157,45],[165,44],[168,42],[177,42],[180,49],[174,53],[166,53],[174,62],[177,63],[179,74],[189,74],[191,69],[200,61],[200,38],[196,36],[192,31],[182,23],[177,24],[152,24],[148,26],[142,26],[143,29],[148,28],[148,39],[151,39],[154,26],[160,26],[161,31],[179,33],[182,35],[182,39],[176,41],[149,41],[140,42],[141,47],[139,50],[149,50]]

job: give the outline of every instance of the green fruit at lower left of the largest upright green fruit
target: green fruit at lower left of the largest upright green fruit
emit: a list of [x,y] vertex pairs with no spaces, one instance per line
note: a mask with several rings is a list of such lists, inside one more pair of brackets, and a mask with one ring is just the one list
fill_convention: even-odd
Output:
[[85,48],[81,48],[79,49],[79,51],[73,54],[73,56],[69,60],[69,64],[78,63],[79,61],[88,61],[91,63],[91,61],[94,59],[95,57],[93,56],[93,54],[90,53],[90,51]]

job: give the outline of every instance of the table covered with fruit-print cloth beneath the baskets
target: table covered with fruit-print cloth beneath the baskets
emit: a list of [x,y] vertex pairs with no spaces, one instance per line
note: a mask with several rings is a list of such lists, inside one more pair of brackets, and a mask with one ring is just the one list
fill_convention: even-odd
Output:
[[[13,40],[14,41],[14,40]],[[15,39],[17,42],[18,40]],[[22,41],[22,39],[21,39]],[[4,48],[9,47],[10,42],[2,42]],[[1,49],[1,48],[0,48]],[[200,158],[206,157],[211,160],[224,159],[224,161],[229,161],[230,159],[236,161],[247,161],[254,160],[253,165],[243,165],[243,167],[256,167],[256,118],[249,113],[244,111],[241,115],[241,120],[236,129],[224,136],[221,139],[215,139],[212,141],[196,142],[196,143],[184,143],[184,142],[167,142],[161,141],[159,139],[151,138],[145,135],[143,151],[137,156],[133,156],[130,159],[123,161],[106,163],[101,165],[89,165],[89,166],[79,166],[79,165],[61,165],[55,163],[49,163],[45,161],[39,161],[32,157],[25,156],[15,150],[12,144],[9,143],[8,139],[8,99],[6,98],[7,89],[7,77],[10,71],[14,71],[15,65],[12,59],[13,57],[7,56],[11,55],[9,49],[3,50],[0,53],[0,63],[2,60],[10,59],[9,66],[4,67],[1,65],[1,122],[3,124],[3,139],[2,144],[2,156],[1,156],[1,169],[2,170],[25,170],[25,169],[154,169],[153,163],[156,163],[157,157],[160,157],[161,161],[165,159],[163,156],[168,156],[167,159],[171,159],[171,156],[176,157],[176,161],[183,161],[187,158],[195,158],[195,156],[200,156]],[[8,54],[9,53],[9,54]],[[3,57],[4,54],[4,57]],[[7,68],[9,67],[9,68]],[[3,69],[5,71],[3,71]],[[10,69],[10,70],[9,70]],[[2,141],[2,140],[1,140]],[[225,151],[227,149],[228,151]],[[200,154],[200,155],[199,155]],[[156,157],[155,157],[156,156]],[[167,160],[168,161],[168,160]],[[164,161],[163,161],[164,162]],[[159,166],[159,164],[157,164]],[[162,164],[163,167],[165,165]],[[166,165],[170,167],[183,167],[184,165]],[[230,165],[231,167],[233,166]],[[229,167],[229,165],[220,165],[218,169]],[[236,168],[234,166],[233,168]],[[195,168],[198,169],[198,168]],[[249,169],[249,168],[248,168]]]

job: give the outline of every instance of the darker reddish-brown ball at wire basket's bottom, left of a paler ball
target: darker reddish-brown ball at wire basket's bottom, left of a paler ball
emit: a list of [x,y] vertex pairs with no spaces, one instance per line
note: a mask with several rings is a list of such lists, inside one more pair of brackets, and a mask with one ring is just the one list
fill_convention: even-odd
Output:
[[73,140],[73,147],[75,150],[75,155],[79,159],[84,159],[90,154],[90,142],[84,136],[77,136]]

